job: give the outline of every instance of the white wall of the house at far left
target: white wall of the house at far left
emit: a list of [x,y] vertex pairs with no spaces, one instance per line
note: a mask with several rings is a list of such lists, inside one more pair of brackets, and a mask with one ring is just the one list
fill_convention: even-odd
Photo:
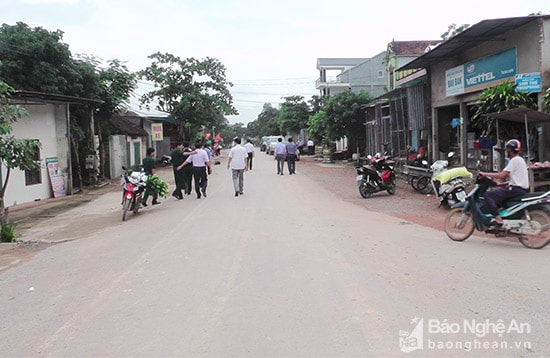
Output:
[[[61,171],[65,177],[65,187],[67,187],[68,143],[65,107],[62,105],[41,104],[24,105],[24,108],[29,112],[29,116],[25,116],[13,124],[12,134],[16,138],[38,139],[40,141],[42,180],[40,184],[25,185],[25,172],[11,170],[4,198],[7,207],[52,197],[46,158],[58,158]],[[6,171],[7,169],[2,167],[2,180],[6,176]]]

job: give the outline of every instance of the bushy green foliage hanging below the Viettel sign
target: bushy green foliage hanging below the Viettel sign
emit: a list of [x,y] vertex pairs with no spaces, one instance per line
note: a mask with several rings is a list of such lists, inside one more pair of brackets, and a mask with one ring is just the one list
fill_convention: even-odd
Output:
[[[487,88],[481,92],[474,103],[472,125],[482,135],[493,137],[496,135],[496,121],[486,115],[520,106],[537,109],[537,103],[533,98],[526,92],[516,91],[514,83],[503,82],[497,86]],[[521,123],[499,122],[499,132],[502,138],[521,138],[524,131],[524,125]]]

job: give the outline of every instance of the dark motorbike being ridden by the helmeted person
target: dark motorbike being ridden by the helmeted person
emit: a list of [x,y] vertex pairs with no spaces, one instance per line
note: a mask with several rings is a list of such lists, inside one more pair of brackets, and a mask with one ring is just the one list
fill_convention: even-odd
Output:
[[500,212],[504,224],[497,225],[484,207],[483,194],[496,183],[478,176],[465,202],[453,206],[445,218],[445,233],[454,241],[464,241],[474,230],[496,237],[516,237],[525,247],[541,249],[550,243],[550,191],[528,193],[506,202]]

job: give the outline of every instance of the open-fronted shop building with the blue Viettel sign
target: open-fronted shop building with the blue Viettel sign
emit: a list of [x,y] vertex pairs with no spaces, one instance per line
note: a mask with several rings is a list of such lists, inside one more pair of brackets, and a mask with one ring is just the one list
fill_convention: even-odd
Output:
[[[427,73],[433,159],[455,151],[469,167],[479,161],[484,170],[501,169],[503,158],[494,143],[485,148],[474,146],[473,104],[484,89],[510,81],[529,92],[542,109],[543,91],[550,87],[548,39],[549,15],[483,20],[397,69],[408,71],[407,78],[413,81],[418,72]],[[550,146],[545,143],[550,141],[550,124],[538,123],[536,132],[531,144],[539,144],[536,154],[540,161],[548,160]]]

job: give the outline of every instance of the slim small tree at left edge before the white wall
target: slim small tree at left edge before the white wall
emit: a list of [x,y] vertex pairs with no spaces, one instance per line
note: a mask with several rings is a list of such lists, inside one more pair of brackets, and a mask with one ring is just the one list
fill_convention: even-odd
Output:
[[[0,63],[1,65],[1,63]],[[10,135],[12,123],[28,112],[9,101],[13,87],[0,80],[0,163],[6,167],[6,174],[0,190],[0,241],[12,241],[12,227],[8,222],[8,212],[4,207],[4,197],[12,169],[32,170],[40,168],[33,160],[39,143],[31,139],[18,139]]]

